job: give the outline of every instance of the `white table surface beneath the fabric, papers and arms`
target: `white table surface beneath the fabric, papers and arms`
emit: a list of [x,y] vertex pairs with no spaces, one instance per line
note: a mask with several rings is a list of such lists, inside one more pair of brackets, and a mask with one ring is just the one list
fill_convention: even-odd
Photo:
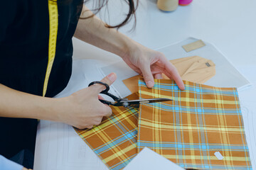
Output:
[[[126,4],[110,1],[110,23],[119,23],[120,11],[127,11]],[[122,1],[122,0],[119,0]],[[189,6],[178,6],[171,13],[156,8],[154,0],[139,0],[137,27],[132,22],[120,32],[142,45],[159,49],[185,40],[202,39],[218,47],[225,57],[248,79],[252,86],[239,92],[245,132],[253,169],[256,169],[256,1],[255,0],[194,0]],[[90,4],[89,4],[90,6]],[[120,11],[118,11],[119,9]],[[102,19],[104,17],[102,15]],[[119,57],[74,39],[73,76],[68,88],[57,97],[68,96],[85,88],[90,81],[100,80],[103,67],[120,61]],[[118,79],[122,79],[119,77]],[[114,93],[114,91],[112,91]],[[254,132],[255,130],[255,132]],[[87,147],[72,127],[63,123],[41,120],[36,139],[34,169],[107,169],[105,164]]]

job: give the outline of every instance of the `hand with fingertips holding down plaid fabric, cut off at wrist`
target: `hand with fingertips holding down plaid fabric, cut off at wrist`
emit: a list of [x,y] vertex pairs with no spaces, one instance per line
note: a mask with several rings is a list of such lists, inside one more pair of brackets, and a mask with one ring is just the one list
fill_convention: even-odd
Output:
[[174,79],[181,90],[185,89],[177,69],[161,52],[151,50],[133,41],[122,59],[135,72],[143,75],[146,86],[149,88],[154,86],[154,78],[162,79],[161,74],[164,73],[169,79]]

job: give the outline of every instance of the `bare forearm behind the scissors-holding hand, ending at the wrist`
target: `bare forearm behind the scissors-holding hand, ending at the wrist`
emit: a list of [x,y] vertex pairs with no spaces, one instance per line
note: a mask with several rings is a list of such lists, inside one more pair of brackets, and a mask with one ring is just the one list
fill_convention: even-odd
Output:
[[55,107],[58,99],[43,98],[10,89],[0,84],[0,116],[58,120]]

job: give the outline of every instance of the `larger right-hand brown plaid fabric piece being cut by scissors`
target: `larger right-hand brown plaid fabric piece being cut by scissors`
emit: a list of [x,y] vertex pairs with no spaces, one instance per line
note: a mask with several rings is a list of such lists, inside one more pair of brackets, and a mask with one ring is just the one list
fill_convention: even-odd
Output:
[[252,169],[237,90],[184,84],[181,91],[172,80],[155,79],[148,89],[139,80],[140,98],[174,101],[140,106],[138,151],[149,147],[186,169]]

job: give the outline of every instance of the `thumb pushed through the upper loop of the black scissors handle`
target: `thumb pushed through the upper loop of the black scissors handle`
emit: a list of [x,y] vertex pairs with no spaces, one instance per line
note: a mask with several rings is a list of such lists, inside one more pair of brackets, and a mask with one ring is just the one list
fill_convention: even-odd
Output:
[[[117,79],[117,74],[110,73],[106,77],[104,77],[101,81],[107,85],[111,85],[114,83],[114,81]],[[92,85],[93,91],[95,91],[97,94],[100,94],[101,91],[105,90],[106,87],[102,84],[93,84]]]

